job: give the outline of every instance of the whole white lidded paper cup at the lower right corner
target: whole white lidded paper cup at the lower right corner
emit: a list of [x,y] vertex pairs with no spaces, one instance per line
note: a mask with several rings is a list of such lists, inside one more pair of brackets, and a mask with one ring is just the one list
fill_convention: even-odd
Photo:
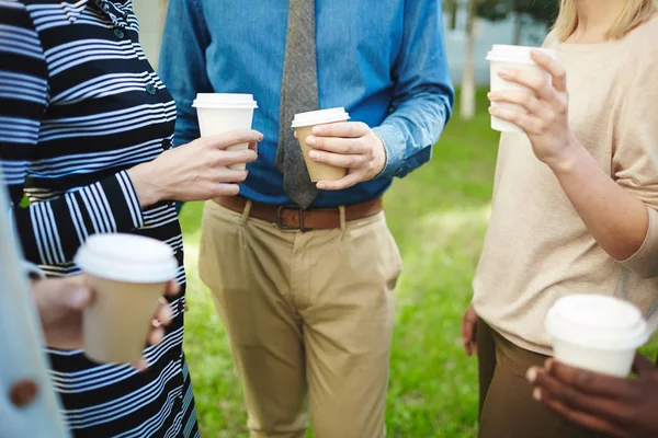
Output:
[[571,295],[555,302],[546,316],[555,358],[572,367],[628,377],[636,350],[649,334],[639,310],[601,295]]

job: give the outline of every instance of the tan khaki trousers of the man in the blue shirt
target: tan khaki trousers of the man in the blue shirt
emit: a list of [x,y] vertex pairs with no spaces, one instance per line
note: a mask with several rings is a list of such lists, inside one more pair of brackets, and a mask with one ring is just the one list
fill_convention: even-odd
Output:
[[384,412],[401,269],[384,214],[341,229],[282,231],[214,201],[200,272],[243,382],[252,438],[386,436]]

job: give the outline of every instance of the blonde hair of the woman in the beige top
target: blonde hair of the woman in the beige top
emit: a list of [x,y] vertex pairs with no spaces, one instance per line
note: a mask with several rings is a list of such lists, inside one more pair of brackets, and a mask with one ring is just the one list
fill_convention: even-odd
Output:
[[[559,41],[566,41],[578,27],[578,0],[560,0],[555,32]],[[623,38],[628,32],[649,20],[658,11],[658,0],[624,0],[624,9],[608,31],[608,39]]]

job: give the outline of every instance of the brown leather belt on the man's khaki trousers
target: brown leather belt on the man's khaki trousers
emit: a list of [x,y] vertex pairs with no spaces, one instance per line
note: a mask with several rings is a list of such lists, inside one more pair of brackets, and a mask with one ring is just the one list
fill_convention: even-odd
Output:
[[[236,212],[243,212],[248,200],[241,196],[227,196],[213,199],[220,206]],[[367,203],[345,206],[345,221],[365,219],[383,210],[382,198]],[[302,210],[297,206],[275,206],[251,203],[249,217],[276,223],[282,230],[309,231],[340,228],[340,208],[311,208]]]

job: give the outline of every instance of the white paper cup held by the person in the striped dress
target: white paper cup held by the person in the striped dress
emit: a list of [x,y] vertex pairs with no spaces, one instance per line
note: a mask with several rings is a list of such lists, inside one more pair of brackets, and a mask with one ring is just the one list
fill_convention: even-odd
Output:
[[[236,129],[250,129],[253,123],[253,110],[258,108],[251,94],[200,93],[192,103],[198,117],[202,137],[216,136]],[[248,143],[231,146],[227,150],[247,149]],[[247,163],[229,169],[245,170]]]

